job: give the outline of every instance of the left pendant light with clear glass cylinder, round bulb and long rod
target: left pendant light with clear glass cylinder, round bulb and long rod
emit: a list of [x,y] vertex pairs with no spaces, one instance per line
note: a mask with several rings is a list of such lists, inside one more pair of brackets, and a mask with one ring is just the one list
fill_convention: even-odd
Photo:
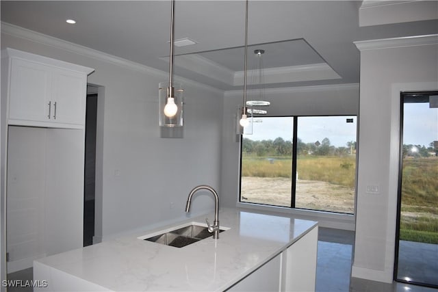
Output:
[[170,10],[170,55],[169,82],[159,83],[159,125],[161,127],[183,126],[183,88],[181,84],[172,82],[173,75],[173,33],[174,33],[175,0]]

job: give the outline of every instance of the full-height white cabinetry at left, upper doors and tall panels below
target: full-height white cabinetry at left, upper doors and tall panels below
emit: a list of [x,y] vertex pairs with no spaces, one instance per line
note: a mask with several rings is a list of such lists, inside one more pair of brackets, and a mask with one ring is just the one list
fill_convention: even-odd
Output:
[[2,51],[1,69],[10,273],[83,246],[86,85],[93,70],[14,49]]

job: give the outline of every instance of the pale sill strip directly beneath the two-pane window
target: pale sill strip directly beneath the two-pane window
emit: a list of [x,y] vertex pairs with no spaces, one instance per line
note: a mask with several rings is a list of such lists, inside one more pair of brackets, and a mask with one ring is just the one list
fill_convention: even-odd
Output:
[[251,204],[237,202],[236,207],[258,211],[268,211],[281,213],[283,215],[293,215],[303,220],[318,221],[320,227],[336,228],[344,230],[355,230],[355,215],[344,213],[331,213],[325,211],[291,209],[287,207],[276,207],[261,204]]

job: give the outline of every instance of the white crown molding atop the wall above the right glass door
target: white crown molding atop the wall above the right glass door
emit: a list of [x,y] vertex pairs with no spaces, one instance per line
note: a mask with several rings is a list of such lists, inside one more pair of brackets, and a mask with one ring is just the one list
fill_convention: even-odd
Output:
[[438,44],[438,34],[406,36],[402,38],[384,38],[379,40],[359,40],[354,42],[354,44],[359,51],[424,46]]

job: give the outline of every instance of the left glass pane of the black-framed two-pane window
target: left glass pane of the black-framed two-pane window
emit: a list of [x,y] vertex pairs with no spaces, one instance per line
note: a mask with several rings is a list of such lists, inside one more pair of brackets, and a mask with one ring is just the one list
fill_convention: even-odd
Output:
[[241,202],[291,206],[293,130],[292,117],[257,118],[243,135]]

